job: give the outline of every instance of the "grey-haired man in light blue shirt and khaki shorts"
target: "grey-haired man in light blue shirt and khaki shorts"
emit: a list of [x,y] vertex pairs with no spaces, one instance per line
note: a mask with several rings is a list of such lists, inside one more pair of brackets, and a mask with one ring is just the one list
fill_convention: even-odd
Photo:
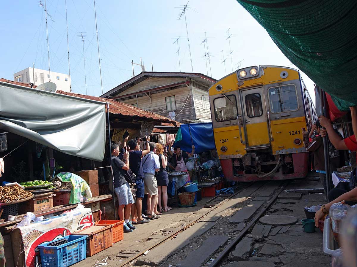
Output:
[[150,142],[150,153],[142,158],[142,170],[144,172],[145,194],[147,194],[147,211],[150,219],[160,218],[157,215],[157,199],[159,192],[157,190],[157,182],[155,172],[160,169],[159,156],[156,155],[156,143]]

